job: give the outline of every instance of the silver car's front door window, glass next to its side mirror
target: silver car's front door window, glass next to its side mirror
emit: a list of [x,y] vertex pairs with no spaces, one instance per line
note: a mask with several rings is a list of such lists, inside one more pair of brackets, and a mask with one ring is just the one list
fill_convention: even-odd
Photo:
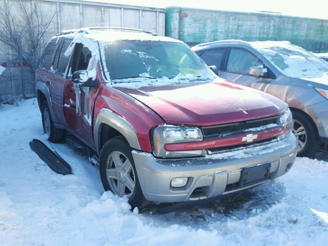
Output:
[[227,72],[250,74],[252,68],[261,66],[261,60],[250,52],[241,49],[230,50]]

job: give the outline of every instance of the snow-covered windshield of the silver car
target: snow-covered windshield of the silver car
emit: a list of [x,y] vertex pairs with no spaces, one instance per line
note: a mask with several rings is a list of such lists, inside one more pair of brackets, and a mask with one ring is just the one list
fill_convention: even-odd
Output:
[[325,77],[328,65],[312,53],[287,41],[250,42],[283,74],[296,78]]

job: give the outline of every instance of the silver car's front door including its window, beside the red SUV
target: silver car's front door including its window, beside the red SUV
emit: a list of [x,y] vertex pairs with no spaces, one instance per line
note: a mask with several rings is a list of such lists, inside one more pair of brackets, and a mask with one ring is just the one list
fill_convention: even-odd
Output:
[[[251,74],[253,68],[264,69],[264,76]],[[252,87],[264,92],[268,91],[269,83],[275,79],[272,71],[252,52],[242,48],[230,48],[228,57],[220,77],[238,84]]]

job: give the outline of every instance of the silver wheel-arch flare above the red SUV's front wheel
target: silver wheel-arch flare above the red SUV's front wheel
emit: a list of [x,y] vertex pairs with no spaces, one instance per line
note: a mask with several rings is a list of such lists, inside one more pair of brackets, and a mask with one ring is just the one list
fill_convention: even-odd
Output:
[[101,109],[93,128],[94,142],[96,150],[100,155],[100,133],[101,126],[106,124],[120,132],[129,142],[129,145],[136,150],[141,150],[139,140],[135,130],[128,120],[115,114],[109,109]]

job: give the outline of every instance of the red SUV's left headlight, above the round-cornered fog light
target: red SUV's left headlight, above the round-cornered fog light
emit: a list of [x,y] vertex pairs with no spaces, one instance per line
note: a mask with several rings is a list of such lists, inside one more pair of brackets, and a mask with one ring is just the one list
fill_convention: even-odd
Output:
[[152,132],[153,153],[157,157],[192,157],[205,155],[205,150],[167,151],[166,144],[202,141],[201,130],[196,127],[158,126]]

